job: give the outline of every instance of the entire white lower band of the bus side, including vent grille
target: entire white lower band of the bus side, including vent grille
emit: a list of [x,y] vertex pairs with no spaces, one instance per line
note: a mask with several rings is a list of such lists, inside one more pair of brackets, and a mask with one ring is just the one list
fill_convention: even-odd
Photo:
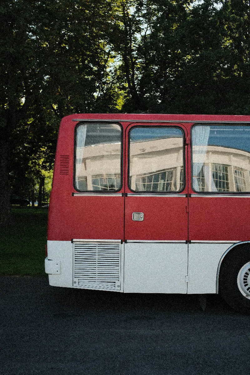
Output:
[[[232,244],[129,242],[118,244],[118,252],[117,246],[107,251],[107,242],[99,242],[95,249],[89,243],[76,245],[47,242],[47,262],[60,262],[60,274],[49,274],[49,285],[125,293],[205,294],[216,293],[218,265]],[[47,267],[47,272],[51,270]]]

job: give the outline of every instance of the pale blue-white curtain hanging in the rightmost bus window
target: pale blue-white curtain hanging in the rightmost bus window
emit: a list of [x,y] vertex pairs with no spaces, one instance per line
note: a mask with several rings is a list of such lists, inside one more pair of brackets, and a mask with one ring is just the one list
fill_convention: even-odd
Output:
[[[208,138],[210,133],[210,126],[196,125],[192,130],[192,145],[193,145],[193,188],[200,191],[197,177],[204,164],[207,152]],[[194,157],[195,156],[195,157]]]

